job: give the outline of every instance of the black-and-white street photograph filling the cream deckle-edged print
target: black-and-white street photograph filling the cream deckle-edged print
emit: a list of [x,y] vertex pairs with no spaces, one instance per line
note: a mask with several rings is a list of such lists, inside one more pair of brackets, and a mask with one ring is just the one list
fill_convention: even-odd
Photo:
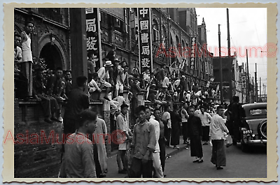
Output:
[[13,179],[273,179],[265,6],[14,7]]

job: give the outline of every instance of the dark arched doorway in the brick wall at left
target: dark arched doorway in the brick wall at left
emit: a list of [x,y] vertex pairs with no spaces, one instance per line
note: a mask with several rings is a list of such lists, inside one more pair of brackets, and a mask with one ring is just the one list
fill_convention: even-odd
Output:
[[57,67],[63,67],[62,56],[58,48],[55,45],[52,45],[51,43],[47,43],[43,46],[40,52],[40,58],[45,59],[45,64],[51,70],[55,70],[55,68]]

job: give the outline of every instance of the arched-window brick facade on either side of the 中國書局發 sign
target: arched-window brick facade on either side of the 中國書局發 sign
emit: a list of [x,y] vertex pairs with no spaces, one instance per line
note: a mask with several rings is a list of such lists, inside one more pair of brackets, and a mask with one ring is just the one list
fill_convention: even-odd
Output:
[[[151,8],[153,71],[166,68],[168,73],[185,75],[188,89],[193,85],[206,87],[213,77],[213,61],[207,46],[207,30],[203,20],[197,25],[195,8]],[[139,70],[139,46],[137,40],[137,8],[100,8],[102,53],[106,56],[111,45],[117,46],[119,61],[127,61],[130,72]],[[197,38],[197,54],[194,70],[190,70],[190,39]],[[167,54],[162,51],[162,48]],[[170,57],[168,51],[175,47],[179,53]],[[184,50],[185,49],[185,50]],[[185,54],[183,52],[185,51]],[[200,57],[201,55],[201,57]]]

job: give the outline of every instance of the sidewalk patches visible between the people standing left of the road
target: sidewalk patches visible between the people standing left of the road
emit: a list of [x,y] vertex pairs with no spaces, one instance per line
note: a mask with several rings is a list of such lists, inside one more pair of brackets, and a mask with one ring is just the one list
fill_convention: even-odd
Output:
[[[183,145],[183,136],[180,136],[180,145],[177,145],[179,149],[173,149],[173,148],[166,148],[165,154],[167,159],[174,156],[180,151],[183,151],[184,149],[188,149],[187,145]],[[173,147],[173,146],[172,146]],[[106,173],[106,178],[125,178],[126,174],[118,174],[118,164],[117,164],[117,154],[118,150],[112,151],[111,155],[108,156],[108,173]]]

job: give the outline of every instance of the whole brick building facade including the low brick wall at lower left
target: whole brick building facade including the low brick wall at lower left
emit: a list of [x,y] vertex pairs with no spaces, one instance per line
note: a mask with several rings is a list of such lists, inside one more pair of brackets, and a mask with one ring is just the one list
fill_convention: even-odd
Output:
[[[133,69],[139,68],[139,45],[137,40],[137,8],[99,8],[102,39],[102,59],[117,46],[116,55],[119,61],[126,61]],[[195,8],[151,8],[153,36],[153,71],[165,68],[167,73],[179,77],[187,77],[188,89],[194,85],[205,87],[213,76],[213,61],[209,52],[203,50],[207,43],[206,26],[197,26]],[[15,8],[14,31],[20,34],[24,31],[28,17],[34,20],[34,33],[31,34],[31,51],[34,59],[45,59],[51,70],[62,67],[64,70],[75,70],[71,66],[78,61],[71,61],[70,39],[70,10],[69,8]],[[197,52],[206,53],[206,57],[195,58],[195,68],[190,70],[190,57],[183,56],[184,47],[190,50],[191,38],[197,38]],[[159,54],[160,47],[178,50],[176,57]],[[186,52],[185,51],[185,52]],[[115,123],[111,115],[104,109],[103,104],[94,104],[106,121],[109,133]],[[64,105],[62,106],[62,115]],[[46,138],[51,131],[62,133],[61,124],[48,125],[43,121],[43,110],[36,101],[21,101],[15,99],[15,135],[18,133],[41,133],[45,130]],[[41,138],[42,135],[39,134]],[[25,138],[26,140],[26,138]],[[60,141],[59,141],[60,142]],[[115,145],[106,145],[110,153]],[[57,177],[62,145],[50,143],[44,145],[15,146],[15,177]],[[26,160],[28,158],[28,161]],[[28,162],[28,163],[27,163]],[[22,170],[22,166],[25,169]],[[34,173],[36,172],[36,173]],[[37,175],[36,175],[37,174]]]

